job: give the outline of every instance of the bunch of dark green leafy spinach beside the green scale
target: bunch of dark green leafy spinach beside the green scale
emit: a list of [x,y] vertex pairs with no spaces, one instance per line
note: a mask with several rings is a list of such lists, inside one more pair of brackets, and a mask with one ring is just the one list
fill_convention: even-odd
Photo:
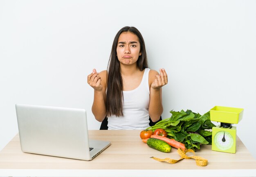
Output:
[[208,131],[216,127],[210,120],[210,111],[204,115],[191,110],[170,111],[171,118],[157,122],[146,131],[164,129],[167,138],[174,139],[185,145],[186,149],[200,149],[201,144],[211,144],[212,133]]

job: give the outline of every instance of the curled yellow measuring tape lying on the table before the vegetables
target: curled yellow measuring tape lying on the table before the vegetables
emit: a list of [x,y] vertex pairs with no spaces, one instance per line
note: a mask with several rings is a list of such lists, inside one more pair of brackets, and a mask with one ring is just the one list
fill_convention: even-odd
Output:
[[[154,160],[157,160],[159,162],[168,162],[170,164],[175,164],[176,162],[182,160],[182,159],[195,159],[195,162],[198,166],[207,166],[208,164],[208,161],[202,157],[199,157],[199,156],[195,156],[195,151],[193,151],[193,149],[187,149],[185,151],[183,151],[182,149],[178,149],[177,150],[178,154],[181,156],[181,158],[179,160],[173,160],[173,159],[170,159],[170,158],[165,158],[165,159],[159,159],[157,157],[150,157],[150,158],[153,158]],[[194,155],[189,157],[186,155],[186,153],[193,153]]]

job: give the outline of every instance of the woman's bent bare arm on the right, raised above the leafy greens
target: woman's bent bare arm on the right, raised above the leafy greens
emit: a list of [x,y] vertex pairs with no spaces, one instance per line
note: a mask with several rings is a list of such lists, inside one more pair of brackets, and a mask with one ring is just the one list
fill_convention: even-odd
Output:
[[160,75],[155,70],[149,72],[150,102],[148,113],[153,122],[159,120],[163,113],[162,86],[168,83],[168,77],[164,69],[160,69]]

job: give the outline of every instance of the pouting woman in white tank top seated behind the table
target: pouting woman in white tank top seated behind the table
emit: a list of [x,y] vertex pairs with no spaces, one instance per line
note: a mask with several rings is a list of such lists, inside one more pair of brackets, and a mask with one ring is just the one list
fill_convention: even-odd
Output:
[[88,75],[94,89],[92,113],[102,122],[108,117],[108,129],[146,129],[162,112],[162,86],[168,82],[164,69],[148,68],[141,33],[126,26],[115,36],[108,71],[95,69]]

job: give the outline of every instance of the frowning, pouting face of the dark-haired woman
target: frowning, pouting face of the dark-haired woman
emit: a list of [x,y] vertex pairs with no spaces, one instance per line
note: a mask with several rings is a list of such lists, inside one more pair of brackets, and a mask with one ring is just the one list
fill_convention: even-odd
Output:
[[121,33],[117,42],[117,58],[120,64],[134,64],[140,55],[140,44],[137,35],[130,32]]

